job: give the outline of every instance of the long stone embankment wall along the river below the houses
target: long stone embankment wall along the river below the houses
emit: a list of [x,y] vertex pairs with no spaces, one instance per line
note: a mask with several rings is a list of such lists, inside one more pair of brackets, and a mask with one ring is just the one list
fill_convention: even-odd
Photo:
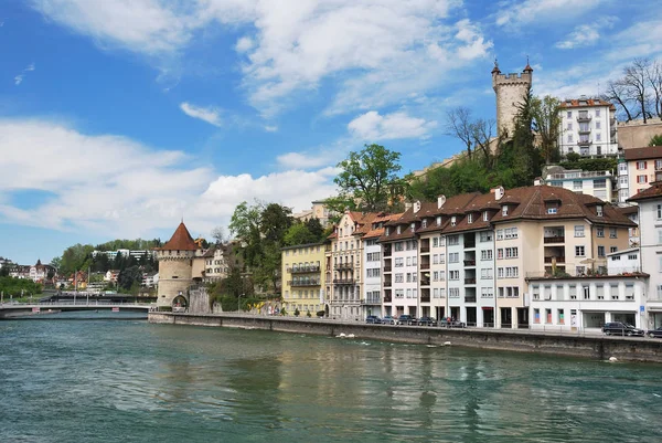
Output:
[[150,313],[154,324],[235,327],[282,333],[338,336],[420,345],[466,346],[524,352],[542,352],[606,360],[662,362],[662,340],[651,338],[575,336],[509,329],[446,329],[417,326],[343,324],[327,319],[293,319],[232,315]]

